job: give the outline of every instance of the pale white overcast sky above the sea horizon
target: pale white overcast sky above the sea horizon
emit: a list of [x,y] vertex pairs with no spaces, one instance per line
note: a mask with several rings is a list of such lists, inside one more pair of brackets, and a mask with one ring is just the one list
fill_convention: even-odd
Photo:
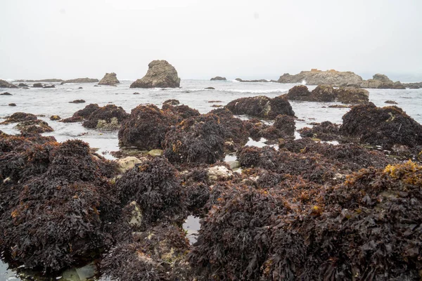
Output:
[[1,0],[0,78],[276,79],[318,68],[422,81],[421,0]]

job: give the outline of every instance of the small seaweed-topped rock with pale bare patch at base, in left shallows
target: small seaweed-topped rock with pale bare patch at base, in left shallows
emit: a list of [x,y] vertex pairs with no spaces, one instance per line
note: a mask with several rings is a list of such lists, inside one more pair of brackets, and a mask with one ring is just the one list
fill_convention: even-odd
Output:
[[119,129],[120,124],[127,118],[129,114],[122,107],[106,105],[94,110],[82,126],[91,129],[115,130]]

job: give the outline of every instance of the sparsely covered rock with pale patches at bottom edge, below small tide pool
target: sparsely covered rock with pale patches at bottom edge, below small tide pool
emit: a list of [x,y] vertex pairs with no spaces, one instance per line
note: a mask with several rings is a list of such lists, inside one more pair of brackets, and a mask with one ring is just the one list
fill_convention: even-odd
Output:
[[181,229],[155,226],[133,236],[132,241],[117,244],[104,256],[100,265],[103,275],[126,281],[191,280],[184,261],[189,243]]

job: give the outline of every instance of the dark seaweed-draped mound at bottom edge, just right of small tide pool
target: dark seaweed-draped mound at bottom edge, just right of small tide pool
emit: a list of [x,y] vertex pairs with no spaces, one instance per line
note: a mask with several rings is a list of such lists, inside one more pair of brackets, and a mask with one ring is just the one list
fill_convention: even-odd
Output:
[[242,186],[219,194],[189,256],[200,280],[260,280],[271,224],[286,214],[276,192]]

